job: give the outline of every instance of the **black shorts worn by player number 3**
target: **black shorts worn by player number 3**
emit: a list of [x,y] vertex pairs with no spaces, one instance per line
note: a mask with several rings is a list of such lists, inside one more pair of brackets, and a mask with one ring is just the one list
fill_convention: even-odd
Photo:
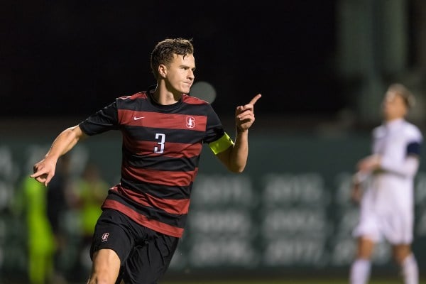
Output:
[[90,258],[99,249],[112,249],[121,260],[116,283],[157,283],[164,275],[179,238],[137,224],[125,214],[105,209],[94,229]]

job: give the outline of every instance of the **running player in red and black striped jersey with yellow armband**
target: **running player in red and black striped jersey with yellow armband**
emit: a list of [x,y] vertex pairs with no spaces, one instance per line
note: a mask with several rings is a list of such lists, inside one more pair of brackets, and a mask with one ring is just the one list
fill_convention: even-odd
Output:
[[151,69],[155,86],[119,97],[62,131],[31,175],[48,185],[58,158],[82,138],[121,131],[121,180],[109,190],[95,226],[89,284],[157,283],[185,228],[202,143],[231,172],[246,166],[253,107],[261,94],[236,107],[233,141],[211,105],[188,95],[195,79],[192,40],[160,41]]

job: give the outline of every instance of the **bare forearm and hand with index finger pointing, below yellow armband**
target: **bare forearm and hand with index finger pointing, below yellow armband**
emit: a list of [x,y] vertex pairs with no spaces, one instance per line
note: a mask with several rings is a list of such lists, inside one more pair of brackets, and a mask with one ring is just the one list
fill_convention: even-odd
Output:
[[247,157],[249,155],[249,128],[255,120],[254,104],[256,104],[257,100],[261,97],[261,94],[257,94],[256,97],[251,99],[249,104],[236,107],[236,137],[234,146],[217,154],[219,160],[221,160],[231,172],[241,173],[244,168],[246,168]]

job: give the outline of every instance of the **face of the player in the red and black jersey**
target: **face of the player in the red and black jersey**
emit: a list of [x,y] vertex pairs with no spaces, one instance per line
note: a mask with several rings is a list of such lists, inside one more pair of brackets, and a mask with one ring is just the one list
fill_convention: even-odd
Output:
[[194,55],[175,55],[166,69],[166,82],[170,91],[176,94],[189,94],[195,76]]

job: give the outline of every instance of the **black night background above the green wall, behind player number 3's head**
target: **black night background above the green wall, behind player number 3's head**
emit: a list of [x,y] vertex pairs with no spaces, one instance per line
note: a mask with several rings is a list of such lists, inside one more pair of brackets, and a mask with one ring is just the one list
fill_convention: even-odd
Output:
[[334,114],[335,1],[27,1],[2,3],[3,117],[87,116],[155,81],[149,56],[193,38],[196,82],[219,114],[263,94],[258,114]]

